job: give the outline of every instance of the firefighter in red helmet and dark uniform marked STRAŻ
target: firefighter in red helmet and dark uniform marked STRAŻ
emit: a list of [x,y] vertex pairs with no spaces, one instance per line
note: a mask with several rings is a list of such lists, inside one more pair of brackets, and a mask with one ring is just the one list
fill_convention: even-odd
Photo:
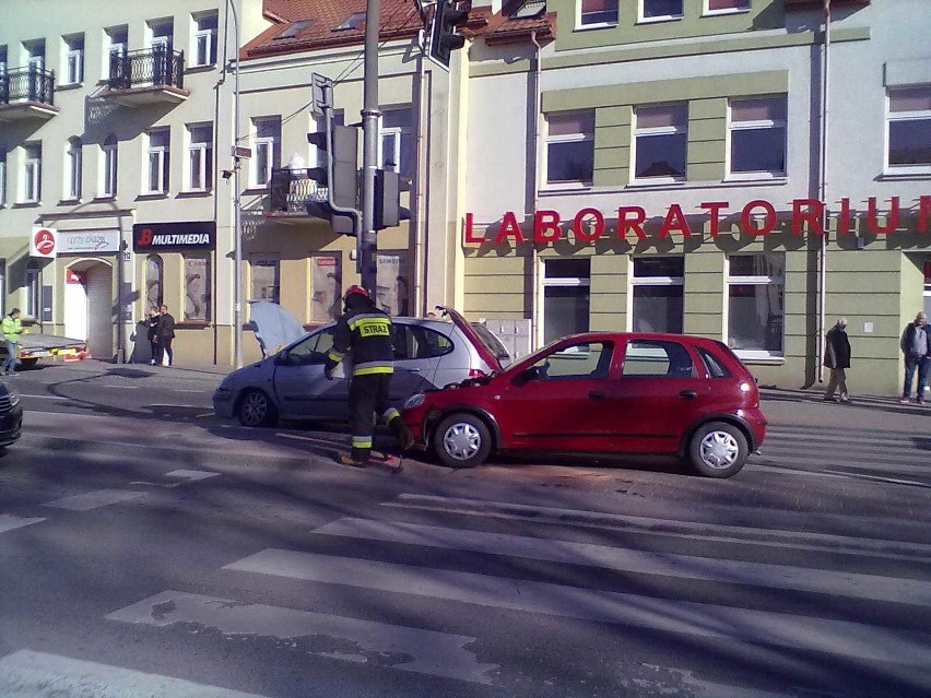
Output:
[[352,454],[341,454],[338,460],[343,465],[365,468],[372,453],[376,413],[398,436],[402,451],[411,448],[414,439],[401,413],[388,402],[388,387],[394,371],[391,318],[375,306],[362,286],[346,288],[344,300],[345,308],[337,321],[333,347],[327,354],[323,372],[332,380],[333,369],[347,352],[352,352],[349,393]]

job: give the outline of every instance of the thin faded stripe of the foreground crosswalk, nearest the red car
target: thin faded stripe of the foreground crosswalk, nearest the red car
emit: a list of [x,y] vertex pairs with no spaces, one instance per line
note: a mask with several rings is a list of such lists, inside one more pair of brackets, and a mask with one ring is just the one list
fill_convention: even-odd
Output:
[[[634,517],[620,513],[599,511],[579,511],[576,509],[558,509],[552,507],[534,507],[530,505],[509,504],[503,501],[483,501],[480,499],[462,499],[455,497],[437,497],[434,495],[400,495],[402,501],[385,501],[382,507],[400,509],[425,509],[447,513],[464,513],[469,516],[492,517],[503,520],[534,521],[584,529],[605,529],[609,531],[635,531],[669,537],[690,540],[720,541],[724,543],[752,543],[755,546],[767,546],[799,551],[829,551],[849,555],[865,555],[888,559],[915,561],[931,559],[931,545],[908,543],[901,541],[873,540],[809,531],[791,531],[779,529],[761,529],[741,525],[705,523],[699,521],[682,521],[677,519],[655,519]],[[498,510],[496,510],[498,508]],[[845,517],[850,520],[851,517]],[[855,517],[858,523],[869,525],[871,531],[881,531],[887,525],[884,519]]]

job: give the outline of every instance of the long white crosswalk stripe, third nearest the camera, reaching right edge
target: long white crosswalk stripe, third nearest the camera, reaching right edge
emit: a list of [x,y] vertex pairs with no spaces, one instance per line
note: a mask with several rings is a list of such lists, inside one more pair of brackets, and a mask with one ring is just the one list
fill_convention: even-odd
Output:
[[268,548],[224,569],[912,666],[931,655],[923,632],[316,553]]

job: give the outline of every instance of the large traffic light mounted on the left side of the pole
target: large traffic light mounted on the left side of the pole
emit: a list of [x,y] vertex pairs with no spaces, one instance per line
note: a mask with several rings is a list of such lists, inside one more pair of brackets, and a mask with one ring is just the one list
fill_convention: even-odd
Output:
[[338,235],[358,234],[358,129],[331,125],[329,133],[307,134],[307,142],[326,154],[327,164],[309,167],[307,176],[319,185],[319,198],[307,201],[307,214],[330,221]]

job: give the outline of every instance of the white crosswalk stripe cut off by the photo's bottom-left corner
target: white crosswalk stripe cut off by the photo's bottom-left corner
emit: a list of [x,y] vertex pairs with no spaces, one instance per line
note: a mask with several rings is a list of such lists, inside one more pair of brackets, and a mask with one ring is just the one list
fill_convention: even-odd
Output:
[[0,658],[0,695],[4,698],[263,698],[258,694],[32,650]]

